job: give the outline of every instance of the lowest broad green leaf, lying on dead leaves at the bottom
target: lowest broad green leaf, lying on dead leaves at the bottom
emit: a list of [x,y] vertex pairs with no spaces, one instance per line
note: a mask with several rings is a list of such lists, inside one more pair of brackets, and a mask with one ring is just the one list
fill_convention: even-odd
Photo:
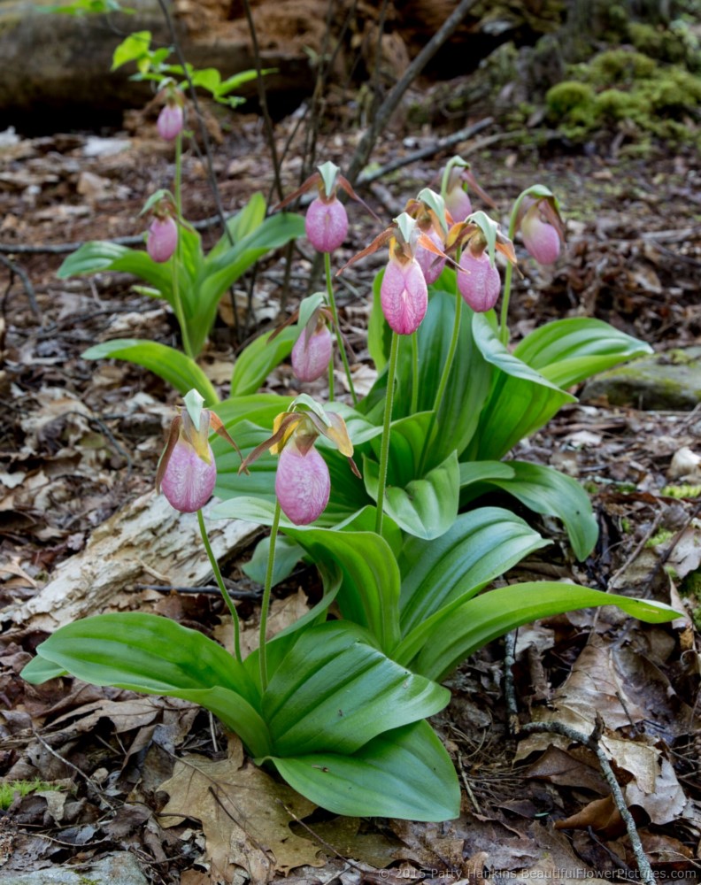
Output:
[[298,793],[335,814],[443,821],[460,813],[451,758],[426,721],[385,732],[352,756],[271,761]]

